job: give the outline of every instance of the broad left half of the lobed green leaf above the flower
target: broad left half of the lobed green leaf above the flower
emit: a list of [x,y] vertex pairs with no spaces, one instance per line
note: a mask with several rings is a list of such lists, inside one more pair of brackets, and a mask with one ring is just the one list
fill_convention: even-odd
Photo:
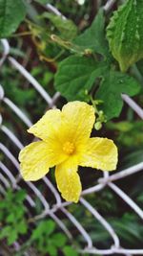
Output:
[[93,58],[72,56],[60,62],[55,75],[55,88],[68,101],[86,100],[96,78],[107,70],[106,62]]

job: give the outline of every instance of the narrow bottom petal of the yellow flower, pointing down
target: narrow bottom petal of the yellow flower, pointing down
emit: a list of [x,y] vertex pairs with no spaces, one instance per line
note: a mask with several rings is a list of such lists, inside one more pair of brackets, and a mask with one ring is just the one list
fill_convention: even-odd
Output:
[[62,197],[67,201],[77,202],[81,194],[81,183],[77,174],[77,166],[71,165],[70,161],[56,166],[55,178]]

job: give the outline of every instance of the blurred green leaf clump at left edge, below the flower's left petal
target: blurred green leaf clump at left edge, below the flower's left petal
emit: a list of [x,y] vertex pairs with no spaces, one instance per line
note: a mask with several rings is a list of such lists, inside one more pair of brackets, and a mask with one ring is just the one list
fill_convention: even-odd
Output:
[[0,240],[6,238],[9,245],[17,241],[19,235],[28,232],[26,207],[23,204],[25,197],[23,190],[17,193],[10,190],[6,198],[0,200]]

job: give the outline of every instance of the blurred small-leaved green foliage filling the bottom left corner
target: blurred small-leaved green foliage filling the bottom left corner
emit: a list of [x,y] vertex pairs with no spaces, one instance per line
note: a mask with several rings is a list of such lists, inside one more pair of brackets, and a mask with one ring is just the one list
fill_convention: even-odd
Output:
[[[23,256],[23,253],[30,247],[34,248],[36,255],[51,256],[77,256],[78,253],[68,242],[68,238],[57,231],[54,221],[34,221],[34,228],[30,232],[30,213],[26,207],[26,192],[19,190],[13,192],[11,189],[6,193],[5,198],[0,199],[0,241],[7,239],[7,244],[27,237],[25,243],[16,252],[11,249],[13,256]],[[33,220],[32,220],[33,221]],[[24,239],[25,240],[25,239]],[[62,254],[61,254],[62,253]]]

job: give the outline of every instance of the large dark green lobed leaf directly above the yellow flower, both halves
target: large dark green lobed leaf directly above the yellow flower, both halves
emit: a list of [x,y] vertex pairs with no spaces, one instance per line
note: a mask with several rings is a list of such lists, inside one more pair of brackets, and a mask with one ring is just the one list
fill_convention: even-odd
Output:
[[122,93],[136,95],[140,84],[132,77],[112,71],[106,61],[97,62],[94,58],[72,56],[64,59],[55,76],[55,88],[68,101],[86,101],[86,91],[95,88],[97,78],[102,78],[95,99],[103,101],[100,108],[107,119],[118,117],[123,101]]

